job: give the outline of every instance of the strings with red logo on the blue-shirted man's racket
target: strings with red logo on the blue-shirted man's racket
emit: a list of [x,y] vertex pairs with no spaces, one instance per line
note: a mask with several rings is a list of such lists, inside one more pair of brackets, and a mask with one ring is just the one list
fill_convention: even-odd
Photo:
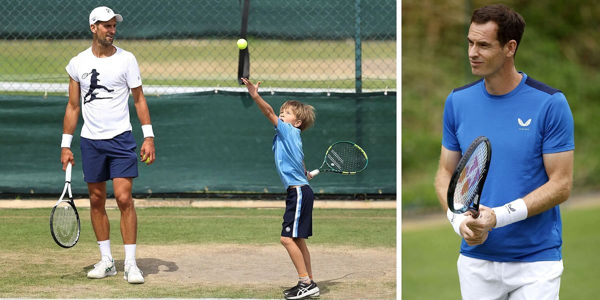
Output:
[[480,143],[465,164],[454,190],[455,207],[469,205],[475,196],[479,181],[484,174],[488,149],[486,143]]

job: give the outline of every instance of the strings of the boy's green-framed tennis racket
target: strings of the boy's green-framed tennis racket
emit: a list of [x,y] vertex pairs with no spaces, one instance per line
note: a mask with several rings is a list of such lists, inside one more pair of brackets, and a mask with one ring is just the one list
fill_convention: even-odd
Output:
[[327,164],[334,170],[358,172],[364,169],[367,158],[360,148],[349,143],[337,143],[327,154]]

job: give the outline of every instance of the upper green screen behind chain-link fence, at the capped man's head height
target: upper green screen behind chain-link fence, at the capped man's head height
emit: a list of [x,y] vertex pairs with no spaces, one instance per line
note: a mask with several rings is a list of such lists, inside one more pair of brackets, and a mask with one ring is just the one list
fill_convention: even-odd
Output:
[[[91,38],[89,13],[100,5],[122,14],[123,26],[119,24],[118,29],[121,38],[238,37],[243,2],[0,0],[6,19],[0,38]],[[395,37],[395,1],[362,3],[363,37]],[[248,35],[283,39],[354,37],[355,1],[251,1],[250,16]]]

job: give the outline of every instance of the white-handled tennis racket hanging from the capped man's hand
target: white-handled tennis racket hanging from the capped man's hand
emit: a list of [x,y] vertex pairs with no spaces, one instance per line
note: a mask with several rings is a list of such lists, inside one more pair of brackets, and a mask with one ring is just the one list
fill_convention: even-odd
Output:
[[[68,191],[69,199],[63,197]],[[65,187],[58,202],[52,208],[50,213],[50,233],[52,238],[62,248],[71,248],[79,241],[79,214],[73,202],[71,193],[71,163],[67,163],[65,170]]]

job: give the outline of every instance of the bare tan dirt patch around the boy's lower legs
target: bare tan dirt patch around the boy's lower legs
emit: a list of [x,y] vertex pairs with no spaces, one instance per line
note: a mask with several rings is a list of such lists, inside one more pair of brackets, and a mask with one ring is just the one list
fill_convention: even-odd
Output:
[[[309,248],[322,299],[396,298],[395,249]],[[268,284],[284,289],[297,278],[285,248],[277,245],[142,245],[138,256],[146,280],[164,284]]]

